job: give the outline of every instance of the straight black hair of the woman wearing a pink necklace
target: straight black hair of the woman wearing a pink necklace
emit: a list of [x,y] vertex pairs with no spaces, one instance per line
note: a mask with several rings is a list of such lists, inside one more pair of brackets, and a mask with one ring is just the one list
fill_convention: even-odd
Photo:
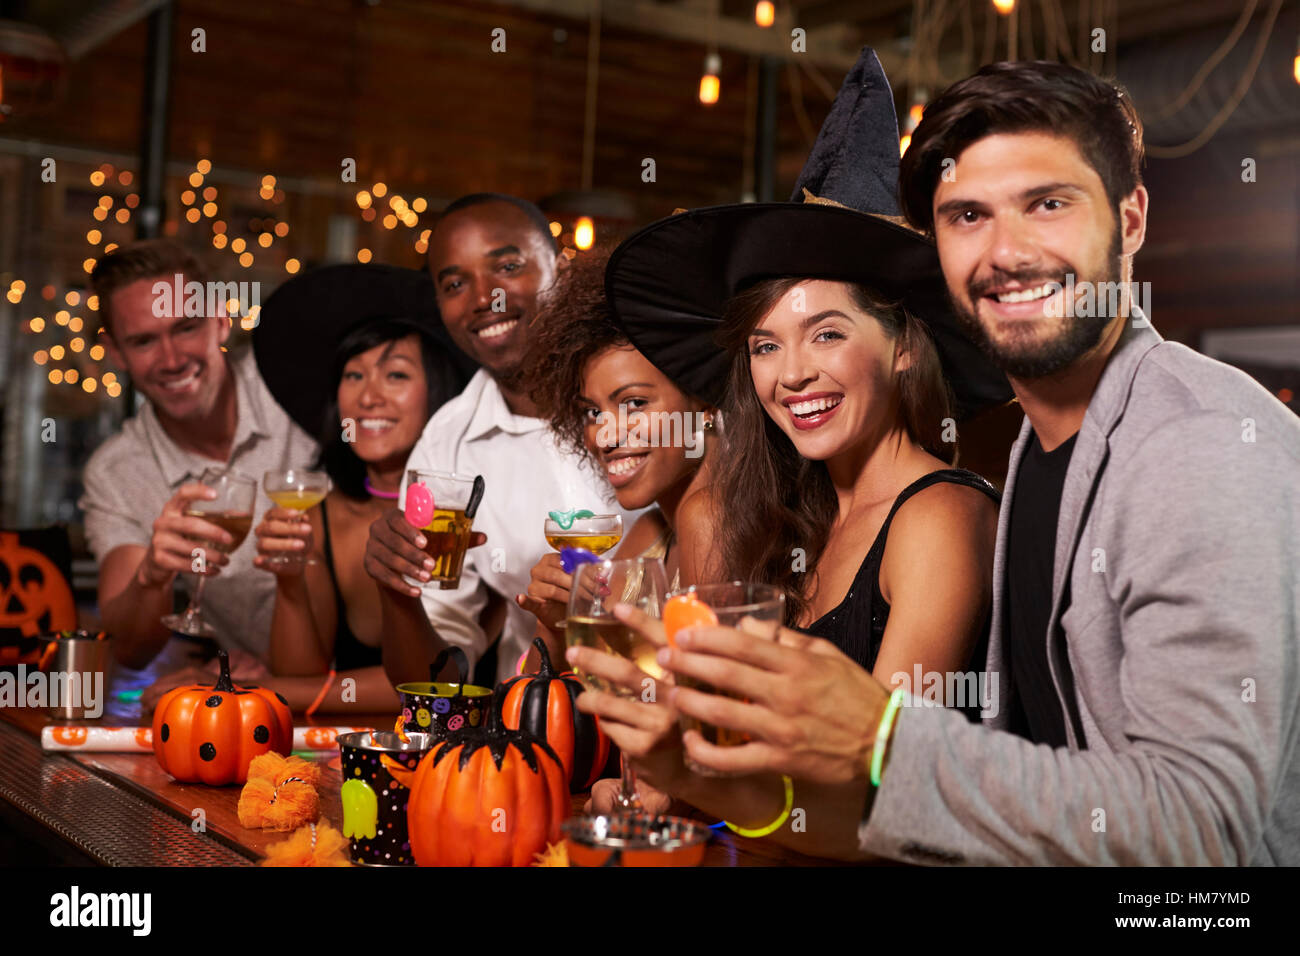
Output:
[[428,325],[413,319],[376,319],[358,325],[339,339],[334,350],[334,371],[330,381],[329,402],[321,418],[321,431],[317,436],[321,446],[320,458],[316,460],[317,468],[322,468],[329,475],[330,481],[343,494],[358,501],[369,498],[365,490],[365,462],[356,457],[352,445],[343,440],[338,416],[338,384],[343,378],[343,367],[354,355],[369,351],[377,345],[395,342],[410,334],[420,337],[420,358],[424,364],[424,381],[428,389],[428,414],[425,421],[433,414],[455,398],[460,390],[459,377],[455,364],[447,355],[447,346],[436,339]]

